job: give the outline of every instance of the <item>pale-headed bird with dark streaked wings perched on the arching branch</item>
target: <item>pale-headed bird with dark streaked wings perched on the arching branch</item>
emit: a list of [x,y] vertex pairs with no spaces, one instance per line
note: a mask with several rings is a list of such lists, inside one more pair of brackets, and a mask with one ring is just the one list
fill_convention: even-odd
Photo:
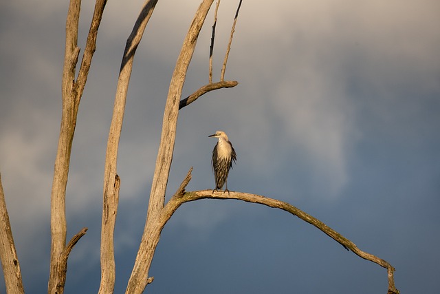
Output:
[[212,150],[212,171],[214,171],[215,178],[215,189],[212,190],[218,191],[226,184],[226,188],[223,191],[228,191],[228,174],[229,169],[232,168],[232,162],[236,161],[236,153],[234,147],[228,140],[228,135],[226,135],[223,131],[217,131],[215,134],[212,134],[208,137],[219,138],[219,141],[214,146],[214,150]]

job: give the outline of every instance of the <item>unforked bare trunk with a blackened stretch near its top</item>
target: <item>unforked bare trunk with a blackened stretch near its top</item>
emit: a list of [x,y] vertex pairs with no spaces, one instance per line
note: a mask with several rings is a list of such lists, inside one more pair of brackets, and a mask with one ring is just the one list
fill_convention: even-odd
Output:
[[99,293],[113,293],[115,286],[115,256],[113,233],[118,212],[120,178],[116,174],[118,147],[124,120],[126,94],[133,69],[133,60],[137,46],[144,34],[146,25],[153,14],[157,0],[144,2],[133,30],[126,41],[124,56],[120,66],[118,86],[116,88],[113,117],[111,119],[109,139],[104,167],[104,187],[102,196],[102,229],[101,229],[101,282]]

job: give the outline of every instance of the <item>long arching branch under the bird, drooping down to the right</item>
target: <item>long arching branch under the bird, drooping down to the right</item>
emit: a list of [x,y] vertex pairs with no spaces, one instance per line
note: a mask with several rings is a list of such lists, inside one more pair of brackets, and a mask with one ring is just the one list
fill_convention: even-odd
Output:
[[181,204],[184,204],[185,202],[195,201],[199,199],[207,199],[207,198],[242,200],[245,202],[258,203],[258,204],[266,205],[268,207],[283,209],[284,211],[292,213],[294,216],[297,216],[301,220],[304,220],[305,222],[314,225],[314,227],[320,229],[322,232],[329,235],[329,237],[331,237],[336,242],[340,243],[347,250],[353,251],[353,253],[358,255],[360,258],[364,258],[365,260],[369,260],[371,262],[374,262],[375,264],[379,264],[380,266],[387,269],[388,294],[399,293],[397,288],[395,288],[395,283],[394,283],[395,269],[393,266],[391,266],[391,264],[389,264],[388,262],[386,262],[386,260],[383,260],[382,258],[378,258],[375,255],[360,250],[358,246],[356,246],[353,242],[342,236],[337,231],[328,227],[324,222],[321,222],[317,218],[310,216],[308,213],[305,213],[304,211],[294,207],[292,204],[289,204],[287,202],[283,202],[280,200],[267,198],[255,194],[235,192],[235,191],[230,191],[230,193],[223,193],[221,191],[212,193],[212,190],[191,191],[184,193],[183,196],[178,196],[176,194],[168,201],[168,203],[166,204],[166,206],[162,211],[162,216],[160,218],[162,224],[163,225],[166,224],[166,222],[171,218],[171,216],[173,216],[173,213],[180,207]]

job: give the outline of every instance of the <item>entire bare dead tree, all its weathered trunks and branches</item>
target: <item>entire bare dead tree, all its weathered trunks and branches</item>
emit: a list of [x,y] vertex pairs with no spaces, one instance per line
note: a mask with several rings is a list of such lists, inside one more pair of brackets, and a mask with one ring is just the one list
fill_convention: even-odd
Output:
[[[214,49],[214,33],[217,24],[217,10],[220,0],[214,12],[214,25],[212,25],[212,38],[210,44],[209,59],[209,77],[208,84],[200,87],[190,96],[181,99],[186,72],[190,64],[192,54],[197,44],[199,32],[205,22],[206,16],[214,0],[202,0],[192,23],[181,51],[177,58],[175,70],[170,81],[168,96],[166,98],[166,107],[164,110],[164,119],[162,123],[162,136],[155,164],[155,173],[151,187],[150,198],[148,202],[147,218],[144,227],[142,240],[140,241],[137,257],[134,262],[131,277],[127,282],[126,293],[142,293],[147,284],[153,282],[153,277],[148,277],[148,271],[153,260],[156,246],[166,222],[173,216],[173,213],[185,202],[192,202],[199,199],[236,199],[245,202],[252,202],[274,207],[288,211],[305,222],[314,225],[329,237],[336,240],[344,246],[345,249],[352,251],[356,255],[375,262],[387,270],[388,274],[388,293],[399,293],[395,288],[393,273],[395,269],[391,264],[358,249],[358,247],[344,238],[340,233],[334,231],[320,220],[310,216],[300,209],[272,198],[258,196],[250,193],[231,191],[230,193],[212,193],[212,191],[191,191],[186,192],[185,188],[191,179],[192,168],[184,178],[183,182],[175,194],[165,203],[166,186],[171,162],[173,159],[173,150],[175,145],[175,136],[177,129],[177,118],[179,109],[190,105],[202,96],[213,90],[221,88],[234,87],[238,85],[236,81],[225,81],[225,68],[228,61],[230,46],[236,20],[239,16],[241,0],[234,17],[230,41],[225,52],[223,67],[221,69],[221,78],[217,83],[212,82],[212,52]],[[48,293],[61,294],[64,291],[65,280],[67,276],[67,258],[74,245],[85,235],[87,228],[72,237],[66,243],[67,222],[65,218],[65,191],[67,185],[67,176],[69,171],[70,153],[72,151],[72,142],[74,138],[76,117],[80,98],[83,95],[87,75],[91,65],[91,59],[96,50],[96,38],[98,28],[102,19],[106,0],[96,0],[94,15],[91,20],[87,43],[83,53],[78,75],[76,76],[76,64],[78,62],[80,49],[77,47],[78,41],[78,19],[80,14],[80,0],[71,0],[66,21],[66,42],[65,42],[65,61],[63,67],[63,112],[61,118],[61,130],[58,140],[58,151],[56,154],[54,167],[54,180],[52,184],[51,195],[51,258],[50,258],[50,277],[48,282]],[[113,249],[113,232],[115,220],[118,213],[120,177],[117,174],[117,158],[120,134],[122,131],[122,121],[124,118],[124,108],[126,103],[126,94],[129,87],[129,80],[133,67],[135,51],[142,39],[146,25],[153,14],[157,0],[146,0],[140,11],[133,30],[126,41],[126,48],[122,56],[120,74],[118,78],[118,87],[115,94],[113,107],[113,118],[109,131],[107,142],[107,153],[104,166],[104,187],[102,202],[102,231],[101,231],[101,281],[99,293],[113,293],[115,284],[115,258]],[[5,284],[8,293],[24,293],[21,280],[21,271],[17,253],[15,252],[14,240],[8,218],[8,212],[5,206],[3,188],[0,178],[0,258],[5,275]]]

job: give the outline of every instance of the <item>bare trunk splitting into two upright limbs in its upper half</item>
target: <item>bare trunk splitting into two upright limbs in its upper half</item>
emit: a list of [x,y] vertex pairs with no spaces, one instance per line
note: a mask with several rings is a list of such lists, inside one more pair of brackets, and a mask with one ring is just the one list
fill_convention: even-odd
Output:
[[[62,97],[63,112],[61,115],[61,130],[58,139],[58,149],[55,159],[54,180],[51,193],[51,252],[50,252],[50,276],[47,286],[48,293],[62,294],[57,289],[58,285],[63,284],[58,272],[63,266],[62,253],[66,245],[67,222],[65,217],[65,192],[67,176],[69,174],[70,154],[76,127],[76,118],[80,98],[83,95],[87,75],[91,64],[91,59],[96,48],[96,34],[102,19],[107,0],[97,0],[95,4],[94,16],[91,21],[91,28],[87,37],[83,62],[78,72],[78,81],[75,82],[75,67],[78,62],[78,22],[80,14],[80,0],[71,0],[66,19],[66,41],[65,41],[65,60],[63,67]],[[67,262],[65,263],[67,266]],[[61,271],[64,272],[65,269]],[[65,279],[65,277],[63,277]]]

